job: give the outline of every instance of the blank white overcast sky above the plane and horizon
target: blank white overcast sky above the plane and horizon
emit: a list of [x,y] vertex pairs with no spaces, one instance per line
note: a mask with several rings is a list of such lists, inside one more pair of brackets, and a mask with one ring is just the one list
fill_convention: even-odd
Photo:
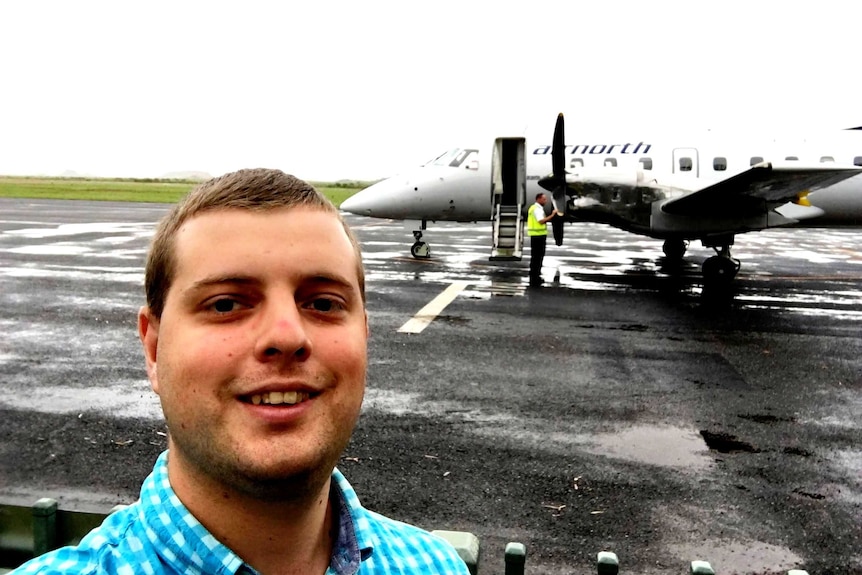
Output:
[[[862,3],[0,3],[0,174],[377,179],[525,126],[862,125]],[[637,137],[632,135],[631,137]]]

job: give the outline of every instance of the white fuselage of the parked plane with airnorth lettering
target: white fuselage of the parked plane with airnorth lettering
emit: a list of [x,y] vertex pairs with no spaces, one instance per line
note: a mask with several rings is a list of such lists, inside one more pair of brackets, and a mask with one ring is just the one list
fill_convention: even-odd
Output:
[[[569,172],[607,174],[622,182],[637,181],[640,174],[646,183],[654,180],[681,190],[720,181],[759,162],[862,164],[862,131],[858,130],[808,138],[745,137],[742,141],[710,133],[681,139],[683,145],[648,138],[580,138],[579,142],[585,143],[565,146]],[[531,145],[528,140],[526,156],[526,192],[530,203],[542,191],[539,180],[551,171],[551,145]],[[442,161],[429,162],[360,191],[342,208],[360,215],[404,220],[492,219],[490,147],[457,148],[441,158]],[[650,223],[649,206],[663,199],[655,189],[641,185],[592,186],[583,195],[591,194],[605,209],[582,206],[572,211],[572,221],[598,221],[635,233],[666,237],[666,233],[653,230]],[[804,220],[803,225],[862,224],[862,176],[814,191],[807,200],[820,208],[822,214]]]

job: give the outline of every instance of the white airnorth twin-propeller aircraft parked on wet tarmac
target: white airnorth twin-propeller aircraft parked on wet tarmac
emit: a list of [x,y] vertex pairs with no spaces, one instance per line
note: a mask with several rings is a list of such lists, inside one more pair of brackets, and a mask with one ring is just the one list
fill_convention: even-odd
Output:
[[[526,210],[542,190],[565,222],[598,222],[664,240],[681,259],[691,240],[716,255],[703,263],[706,284],[729,282],[740,263],[736,234],[778,226],[862,225],[862,129],[807,137],[586,139],[566,144],[563,115],[551,144],[497,138],[489,149],[455,148],[378,182],[342,203],[347,212],[416,220],[411,253],[428,221],[493,222],[492,260],[517,260]],[[547,209],[551,209],[551,203]],[[803,236],[800,236],[802,238]]]

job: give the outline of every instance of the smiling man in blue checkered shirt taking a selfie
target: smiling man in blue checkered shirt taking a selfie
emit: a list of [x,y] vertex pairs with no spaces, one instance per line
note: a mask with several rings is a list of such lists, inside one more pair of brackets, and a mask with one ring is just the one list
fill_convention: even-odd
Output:
[[309,184],[242,170],[159,224],[138,314],[169,431],[141,498],[22,573],[466,574],[335,469],[359,417],[359,245]]

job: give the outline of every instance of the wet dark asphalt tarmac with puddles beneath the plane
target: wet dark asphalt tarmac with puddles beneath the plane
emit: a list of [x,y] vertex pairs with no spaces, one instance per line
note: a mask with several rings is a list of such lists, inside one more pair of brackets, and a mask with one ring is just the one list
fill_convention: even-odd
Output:
[[[2,500],[107,510],[164,449],[135,312],[165,210],[0,200]],[[339,466],[367,507],[475,533],[481,575],[509,541],[533,574],[594,572],[602,550],[630,573],[862,573],[862,233],[738,236],[715,294],[711,251],[672,266],[658,241],[569,226],[529,290],[527,259],[488,262],[488,223],[430,224],[420,261],[402,223],[347,219],[372,333]]]

